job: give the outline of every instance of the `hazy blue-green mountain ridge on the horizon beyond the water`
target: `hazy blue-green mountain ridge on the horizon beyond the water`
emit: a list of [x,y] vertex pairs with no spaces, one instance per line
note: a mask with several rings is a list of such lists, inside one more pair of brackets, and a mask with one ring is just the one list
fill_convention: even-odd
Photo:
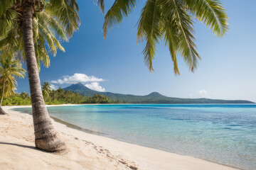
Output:
[[242,101],[242,100],[220,100],[220,99],[209,99],[209,98],[172,98],[163,96],[157,92],[153,92],[146,96],[136,96],[132,94],[114,94],[111,92],[100,92],[94,91],[87,88],[85,85],[78,83],[72,84],[64,88],[64,90],[69,90],[81,94],[82,96],[93,96],[95,94],[101,94],[112,99],[119,99],[121,102],[127,103],[253,103],[252,101]]

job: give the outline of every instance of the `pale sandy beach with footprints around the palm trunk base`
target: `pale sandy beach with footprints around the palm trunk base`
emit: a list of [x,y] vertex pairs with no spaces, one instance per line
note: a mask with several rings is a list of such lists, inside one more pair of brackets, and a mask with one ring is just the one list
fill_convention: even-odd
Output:
[[68,151],[62,154],[43,152],[34,145],[32,116],[11,111],[14,107],[19,106],[4,106],[9,115],[0,116],[0,169],[233,169],[203,159],[92,135],[53,120]]

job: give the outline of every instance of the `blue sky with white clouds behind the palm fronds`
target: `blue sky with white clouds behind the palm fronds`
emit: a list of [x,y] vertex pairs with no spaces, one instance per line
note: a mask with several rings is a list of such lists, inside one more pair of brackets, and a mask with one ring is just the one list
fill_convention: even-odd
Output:
[[[196,23],[196,45],[202,60],[196,72],[191,73],[178,56],[181,76],[175,76],[164,42],[157,46],[155,72],[149,72],[144,64],[144,43],[137,44],[136,37],[142,2],[103,40],[104,16],[92,0],[78,0],[79,31],[63,43],[65,53],[59,51],[51,57],[49,68],[41,67],[41,82],[51,81],[55,86],[65,87],[82,81],[92,89],[122,94],[146,95],[157,91],[181,98],[256,101],[256,1],[221,2],[230,18],[228,33],[217,38],[209,28]],[[110,4],[106,4],[107,8]],[[28,77],[18,79],[18,92],[21,91],[29,92]]]

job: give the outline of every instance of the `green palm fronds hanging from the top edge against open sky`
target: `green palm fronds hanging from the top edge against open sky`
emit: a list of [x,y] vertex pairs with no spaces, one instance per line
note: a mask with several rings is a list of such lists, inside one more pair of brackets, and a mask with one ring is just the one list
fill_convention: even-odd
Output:
[[[103,24],[104,38],[107,30],[122,21],[124,16],[135,8],[137,0],[115,0],[105,15]],[[104,0],[97,0],[104,11]],[[146,40],[143,50],[144,62],[150,71],[154,71],[152,60],[156,44],[163,39],[169,47],[174,62],[174,73],[178,71],[177,52],[188,64],[191,72],[196,68],[199,57],[196,52],[193,30],[193,18],[201,21],[213,30],[218,37],[228,31],[228,17],[218,0],[146,0],[137,23],[137,41]]]

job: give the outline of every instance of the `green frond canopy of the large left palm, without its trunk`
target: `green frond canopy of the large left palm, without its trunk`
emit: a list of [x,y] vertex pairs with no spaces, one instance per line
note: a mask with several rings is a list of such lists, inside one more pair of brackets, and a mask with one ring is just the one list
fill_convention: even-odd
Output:
[[[20,56],[24,59],[22,35],[22,2],[0,1],[0,52],[1,57]],[[48,52],[53,56],[57,50],[65,52],[60,41],[68,41],[78,29],[80,18],[75,0],[35,0],[33,17],[33,41],[38,69],[40,64],[50,65]],[[56,38],[58,37],[58,38]],[[46,47],[48,45],[48,47]]]

